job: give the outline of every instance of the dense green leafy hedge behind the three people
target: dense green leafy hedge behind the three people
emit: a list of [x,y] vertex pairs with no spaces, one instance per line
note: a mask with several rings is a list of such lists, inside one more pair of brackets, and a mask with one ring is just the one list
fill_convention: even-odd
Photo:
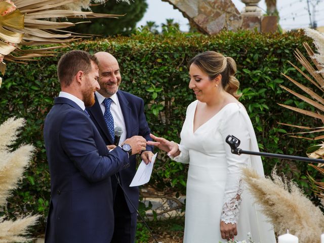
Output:
[[[311,44],[311,40],[299,32],[221,32],[210,37],[172,31],[153,35],[143,30],[131,37],[72,43],[62,53],[78,49],[113,54],[121,68],[121,89],[144,99],[146,117],[152,132],[177,142],[180,141],[186,107],[195,100],[193,92],[188,89],[188,60],[207,50],[223,53],[234,58],[237,63],[237,78],[243,93],[240,101],[248,109],[260,150],[305,156],[306,148],[312,143],[284,136],[291,130],[279,126],[277,122],[304,126],[320,123],[276,104],[290,104],[299,108],[306,106],[278,87],[279,84],[284,84],[296,90],[280,72],[307,84],[288,63],[292,61],[297,64],[293,55],[296,48],[306,55],[302,46],[304,41]],[[50,175],[43,141],[43,123],[52,107],[53,98],[60,90],[56,77],[58,59],[59,57],[42,58],[28,65],[8,63],[0,89],[0,123],[11,116],[25,117],[27,125],[19,142],[32,143],[37,147],[32,164],[25,173],[26,178],[9,199],[7,213],[10,216],[26,212],[46,216],[48,212]],[[316,203],[306,171],[315,178],[316,172],[307,163],[269,158],[264,158],[263,162],[266,174],[269,175],[276,165],[279,173],[293,178]],[[166,154],[160,152],[149,185],[165,194],[184,194],[186,171],[187,166],[171,161]],[[44,230],[45,217],[33,233],[41,234]]]

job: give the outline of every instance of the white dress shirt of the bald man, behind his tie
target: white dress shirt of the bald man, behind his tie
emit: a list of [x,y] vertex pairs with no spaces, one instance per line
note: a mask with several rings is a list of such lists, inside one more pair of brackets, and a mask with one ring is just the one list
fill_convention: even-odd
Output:
[[[105,114],[105,104],[103,103],[104,99],[106,97],[102,96],[99,92],[95,93],[98,99],[98,102],[100,104],[100,108],[102,111],[102,114]],[[112,100],[111,105],[110,105],[110,112],[113,117],[113,122],[114,122],[114,127],[121,127],[123,129],[123,133],[120,136],[120,140],[118,145],[123,143],[126,140],[127,132],[126,132],[126,125],[125,125],[125,119],[123,112],[121,111],[119,100],[117,97],[117,94],[113,94],[110,99]]]

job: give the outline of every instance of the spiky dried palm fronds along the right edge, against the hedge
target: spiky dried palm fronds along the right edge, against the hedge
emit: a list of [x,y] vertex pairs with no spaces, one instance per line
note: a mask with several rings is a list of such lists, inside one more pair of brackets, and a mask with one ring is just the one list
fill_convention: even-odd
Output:
[[[310,57],[311,62],[305,58],[302,53],[299,50],[295,51],[295,57],[297,60],[302,64],[302,66],[307,70],[308,74],[307,75],[305,72],[303,72],[300,68],[298,68],[296,65],[290,62],[290,64],[297,70],[299,71],[305,78],[306,81],[309,82],[309,86],[313,85],[316,92],[313,91],[311,88],[300,84],[293,78],[289,77],[288,75],[281,73],[284,75],[290,82],[292,82],[294,85],[296,85],[300,90],[304,92],[304,94],[297,93],[291,89],[288,89],[285,86],[280,87],[287,92],[291,93],[295,97],[299,98],[300,100],[308,103],[309,105],[313,106],[315,109],[315,112],[305,110],[305,109],[300,109],[297,107],[289,106],[289,105],[284,105],[284,104],[279,104],[282,107],[288,108],[290,110],[293,110],[295,112],[320,119],[322,123],[324,123],[324,99],[322,98],[324,94],[324,34],[319,33],[316,30],[313,29],[305,29],[305,33],[313,38],[315,47],[317,49],[318,53],[315,53],[310,46],[307,43],[304,43],[304,48],[306,49],[307,54]],[[307,140],[322,140],[324,139],[324,135],[322,133],[324,132],[324,127],[317,127],[317,128],[310,128],[310,127],[305,127],[305,126],[297,126],[297,125],[292,125],[292,124],[285,124],[285,123],[279,123],[281,125],[285,126],[290,126],[294,128],[299,128],[302,129],[302,132],[295,132],[295,133],[288,133],[287,135],[294,137],[294,138],[302,138],[302,139],[307,139]],[[305,134],[314,134],[314,133],[319,133],[317,136],[313,137],[306,137],[304,136]],[[324,156],[324,144],[318,144],[315,146],[311,146],[307,149],[306,154],[310,158],[323,158]],[[317,166],[312,166],[316,170],[320,171],[320,167],[322,167],[324,164],[318,164]],[[322,197],[324,194],[324,187],[320,182],[316,182],[310,175],[308,175],[308,178],[310,182],[317,188],[315,188],[315,193]]]

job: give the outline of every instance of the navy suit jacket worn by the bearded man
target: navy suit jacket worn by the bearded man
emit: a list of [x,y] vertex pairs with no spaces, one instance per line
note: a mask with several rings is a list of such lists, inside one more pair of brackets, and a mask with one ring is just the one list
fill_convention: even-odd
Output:
[[45,119],[51,173],[47,243],[107,243],[113,234],[110,176],[129,166],[120,147],[108,151],[90,117],[58,97]]

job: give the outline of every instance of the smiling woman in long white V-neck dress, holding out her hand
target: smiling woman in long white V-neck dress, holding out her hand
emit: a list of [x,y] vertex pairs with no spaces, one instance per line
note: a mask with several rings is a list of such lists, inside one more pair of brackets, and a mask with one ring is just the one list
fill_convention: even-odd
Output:
[[187,108],[180,144],[154,135],[156,142],[147,142],[189,164],[184,242],[243,240],[250,232],[255,242],[275,243],[272,225],[240,179],[244,166],[264,176],[261,158],[232,154],[225,143],[227,135],[234,135],[241,149],[258,151],[249,115],[237,101],[235,61],[209,51],[189,65],[189,88],[197,100]]

